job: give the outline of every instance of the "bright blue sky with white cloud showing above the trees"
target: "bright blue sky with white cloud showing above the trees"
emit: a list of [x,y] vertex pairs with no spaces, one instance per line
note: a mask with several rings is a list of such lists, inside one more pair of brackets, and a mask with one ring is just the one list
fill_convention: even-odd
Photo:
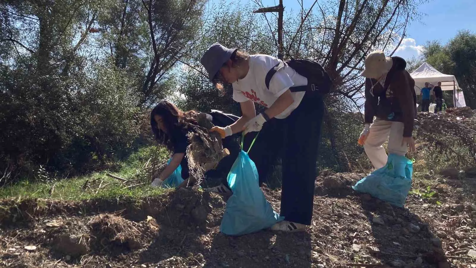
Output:
[[[219,0],[211,0],[218,2]],[[319,0],[323,1],[323,0]],[[236,0],[226,0],[236,2]],[[251,1],[253,3],[253,1]],[[309,8],[314,0],[303,0]],[[279,0],[262,0],[264,6],[274,6]],[[286,11],[300,10],[300,0],[283,0]],[[459,30],[476,32],[476,0],[429,0],[418,11],[424,13],[421,21],[413,21],[407,28],[407,36],[395,55],[409,59],[417,57],[426,41],[438,40],[445,44]]]

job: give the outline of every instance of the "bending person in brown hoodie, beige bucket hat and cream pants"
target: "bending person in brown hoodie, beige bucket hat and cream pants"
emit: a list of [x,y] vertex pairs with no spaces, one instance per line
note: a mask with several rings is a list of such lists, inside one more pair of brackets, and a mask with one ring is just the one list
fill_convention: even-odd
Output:
[[[388,153],[406,155],[415,151],[412,137],[417,116],[415,80],[405,70],[407,62],[400,57],[385,57],[374,51],[365,59],[365,127],[359,144],[375,168],[387,164],[383,144],[388,139]],[[374,120],[374,116],[376,117]]]

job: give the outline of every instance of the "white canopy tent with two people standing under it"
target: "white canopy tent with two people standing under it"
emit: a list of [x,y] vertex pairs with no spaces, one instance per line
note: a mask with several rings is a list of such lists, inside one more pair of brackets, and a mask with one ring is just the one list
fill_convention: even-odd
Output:
[[420,94],[420,89],[425,87],[425,82],[431,82],[435,86],[437,82],[441,82],[442,90],[453,91],[453,102],[455,103],[455,107],[466,106],[465,96],[460,90],[458,81],[456,81],[454,75],[438,72],[438,70],[427,62],[424,62],[417,70],[410,73],[410,75],[415,79],[415,92],[417,95]]

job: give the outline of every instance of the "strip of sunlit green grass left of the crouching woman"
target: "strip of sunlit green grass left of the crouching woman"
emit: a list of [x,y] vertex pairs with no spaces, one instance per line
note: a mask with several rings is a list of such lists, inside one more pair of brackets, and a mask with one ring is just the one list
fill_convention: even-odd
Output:
[[151,156],[157,154],[159,154],[160,158],[167,159],[169,157],[167,150],[163,147],[143,147],[121,163],[121,168],[117,173],[105,171],[60,180],[55,178],[36,181],[22,180],[15,185],[1,187],[0,198],[45,198],[79,201],[92,198],[110,199],[122,197],[140,199],[147,196],[160,195],[167,190],[150,187],[149,181],[139,180],[138,183],[144,184],[126,188],[118,180],[106,176],[106,173],[112,173],[125,179],[132,178],[141,172],[141,167]]

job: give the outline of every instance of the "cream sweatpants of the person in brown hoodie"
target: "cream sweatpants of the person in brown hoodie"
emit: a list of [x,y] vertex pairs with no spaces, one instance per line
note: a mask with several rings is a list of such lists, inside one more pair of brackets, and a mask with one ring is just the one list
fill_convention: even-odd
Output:
[[370,132],[365,140],[364,149],[368,159],[376,169],[387,164],[387,154],[382,146],[388,139],[389,154],[404,156],[407,154],[407,144],[402,145],[403,123],[375,119],[370,125]]

